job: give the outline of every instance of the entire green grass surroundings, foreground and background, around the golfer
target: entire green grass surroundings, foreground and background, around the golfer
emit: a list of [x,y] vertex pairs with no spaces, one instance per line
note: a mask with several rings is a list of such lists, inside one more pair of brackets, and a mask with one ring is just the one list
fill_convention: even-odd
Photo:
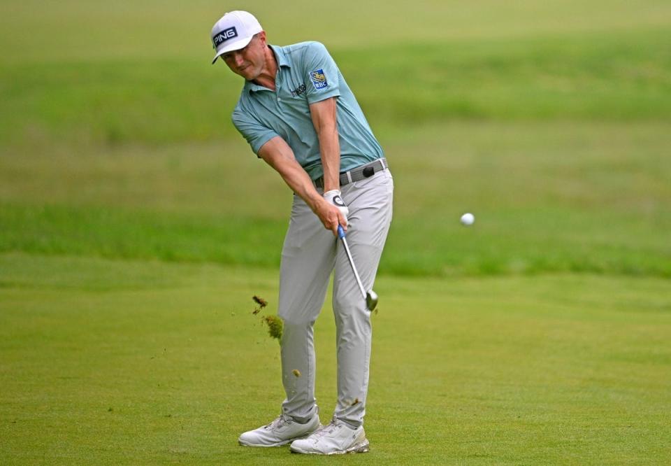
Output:
[[[236,445],[282,400],[251,297],[276,311],[291,196],[230,123],[225,8],[3,3],[0,463],[315,460]],[[394,173],[372,451],[340,460],[669,463],[671,4],[253,12],[329,47]]]

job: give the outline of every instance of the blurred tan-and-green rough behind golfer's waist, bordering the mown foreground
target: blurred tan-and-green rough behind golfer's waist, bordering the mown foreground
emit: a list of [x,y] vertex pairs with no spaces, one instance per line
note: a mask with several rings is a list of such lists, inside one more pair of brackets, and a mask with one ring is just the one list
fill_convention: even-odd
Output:
[[[395,184],[382,274],[671,277],[668,125],[453,122],[380,139]],[[0,157],[0,252],[275,268],[290,206],[242,138]]]

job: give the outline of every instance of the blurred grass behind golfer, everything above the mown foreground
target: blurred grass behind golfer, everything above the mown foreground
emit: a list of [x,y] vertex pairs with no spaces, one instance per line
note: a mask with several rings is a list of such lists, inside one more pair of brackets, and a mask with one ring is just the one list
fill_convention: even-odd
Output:
[[[231,125],[240,79],[210,66],[225,6],[4,8],[0,250],[277,266],[291,199]],[[271,43],[329,47],[387,153],[382,274],[671,276],[670,3],[253,13]]]

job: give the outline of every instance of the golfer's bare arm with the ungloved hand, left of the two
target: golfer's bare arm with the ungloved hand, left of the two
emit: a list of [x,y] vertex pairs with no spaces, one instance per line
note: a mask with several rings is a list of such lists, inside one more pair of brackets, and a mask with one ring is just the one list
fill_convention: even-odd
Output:
[[275,136],[259,149],[259,157],[261,157],[270,167],[273,167],[277,173],[282,176],[284,183],[289,185],[296,195],[300,196],[305,201],[310,209],[317,214],[319,220],[322,220],[324,227],[331,230],[334,235],[338,234],[338,225],[342,225],[345,230],[345,218],[342,217],[340,209],[334,204],[327,202],[322,195],[317,192],[315,185],[312,184],[310,176],[298,164],[294,151],[291,150],[289,144],[280,136]]

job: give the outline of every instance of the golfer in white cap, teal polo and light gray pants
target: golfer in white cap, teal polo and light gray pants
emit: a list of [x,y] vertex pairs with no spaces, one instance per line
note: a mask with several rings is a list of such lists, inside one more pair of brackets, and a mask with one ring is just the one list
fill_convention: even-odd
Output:
[[[324,45],[269,45],[257,19],[226,13],[212,28],[217,59],[245,84],[233,124],[252,151],[294,192],[282,248],[278,314],[282,335],[282,414],[240,435],[246,446],[291,444],[296,453],[368,451],[363,431],[370,361],[370,311],[338,225],[366,290],[391,223],[394,183],[382,148]],[[315,400],[313,327],[333,272],[338,403],[328,425]]]

